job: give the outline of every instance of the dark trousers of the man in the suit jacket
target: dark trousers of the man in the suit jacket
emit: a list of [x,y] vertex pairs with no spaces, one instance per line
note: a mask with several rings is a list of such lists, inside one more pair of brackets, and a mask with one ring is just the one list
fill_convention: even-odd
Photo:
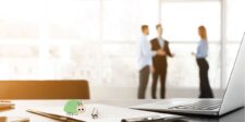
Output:
[[161,98],[166,98],[166,75],[167,75],[167,66],[161,69],[161,70],[156,70],[152,74],[152,87],[151,87],[151,97],[154,99],[157,98],[156,93],[157,93],[157,83],[158,83],[158,77],[160,77],[161,81],[161,89],[160,89],[160,96]]

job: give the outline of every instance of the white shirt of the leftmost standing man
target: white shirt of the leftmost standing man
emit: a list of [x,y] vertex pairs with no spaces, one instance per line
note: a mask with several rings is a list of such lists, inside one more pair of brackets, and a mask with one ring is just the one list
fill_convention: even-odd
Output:
[[144,66],[152,65],[152,52],[150,49],[150,44],[146,35],[143,35],[139,38],[139,50],[138,50],[138,70],[142,70]]

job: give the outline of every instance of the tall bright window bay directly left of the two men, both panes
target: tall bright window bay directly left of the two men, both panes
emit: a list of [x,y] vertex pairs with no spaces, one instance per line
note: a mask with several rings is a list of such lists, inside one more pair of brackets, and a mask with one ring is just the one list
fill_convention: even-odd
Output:
[[[158,0],[102,0],[102,82],[107,86],[137,86],[136,44],[140,25],[155,28],[159,22],[158,3]],[[155,36],[151,30],[150,34]]]

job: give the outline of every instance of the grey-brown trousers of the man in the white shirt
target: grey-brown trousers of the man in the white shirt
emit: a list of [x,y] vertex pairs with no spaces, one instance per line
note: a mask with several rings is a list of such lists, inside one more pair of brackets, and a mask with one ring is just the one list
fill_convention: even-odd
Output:
[[146,88],[149,81],[149,65],[139,71],[138,99],[145,99]]

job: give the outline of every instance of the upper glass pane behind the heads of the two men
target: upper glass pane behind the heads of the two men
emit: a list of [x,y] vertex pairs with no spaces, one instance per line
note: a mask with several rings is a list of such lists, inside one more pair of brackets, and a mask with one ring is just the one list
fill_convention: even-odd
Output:
[[136,40],[142,24],[155,28],[159,23],[158,0],[103,0],[102,3],[103,40]]

